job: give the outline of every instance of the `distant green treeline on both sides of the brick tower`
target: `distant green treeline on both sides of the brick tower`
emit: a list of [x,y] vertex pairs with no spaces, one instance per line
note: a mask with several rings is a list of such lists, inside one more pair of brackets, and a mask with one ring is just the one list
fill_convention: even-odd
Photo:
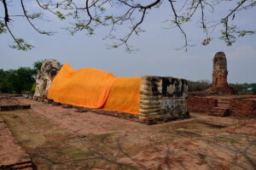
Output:
[[[237,94],[256,94],[256,83],[230,83]],[[211,82],[202,80],[198,82],[189,81],[189,92],[201,92],[210,88]]]

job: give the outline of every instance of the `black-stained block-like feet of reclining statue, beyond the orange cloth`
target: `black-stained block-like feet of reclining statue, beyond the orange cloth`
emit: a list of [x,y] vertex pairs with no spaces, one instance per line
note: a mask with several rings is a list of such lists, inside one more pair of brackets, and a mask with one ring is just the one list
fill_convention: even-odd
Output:
[[188,82],[174,77],[143,77],[140,115],[147,119],[177,119],[188,116]]

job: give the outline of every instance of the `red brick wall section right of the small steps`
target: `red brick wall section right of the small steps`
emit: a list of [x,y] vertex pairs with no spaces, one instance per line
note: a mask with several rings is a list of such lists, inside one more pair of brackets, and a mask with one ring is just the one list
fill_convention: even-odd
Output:
[[256,117],[256,100],[232,99],[230,100],[231,116]]

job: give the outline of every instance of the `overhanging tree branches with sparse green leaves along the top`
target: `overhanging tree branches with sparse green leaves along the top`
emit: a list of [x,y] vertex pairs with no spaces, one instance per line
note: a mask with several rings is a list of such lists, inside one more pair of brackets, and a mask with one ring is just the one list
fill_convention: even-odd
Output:
[[[184,45],[183,48],[187,50],[190,46],[186,32],[183,30],[183,25],[190,20],[195,20],[195,14],[200,15],[201,31],[205,34],[205,38],[202,40],[202,45],[207,45],[211,42],[209,32],[214,31],[216,27],[221,27],[220,39],[224,40],[228,46],[236,42],[237,37],[244,37],[247,34],[253,34],[254,31],[247,31],[239,29],[233,24],[233,20],[236,18],[236,14],[239,14],[242,10],[253,8],[256,5],[254,0],[185,0],[181,4],[180,1],[174,0],[84,0],[84,4],[80,4],[77,0],[36,0],[39,8],[43,12],[32,13],[26,9],[24,0],[7,1],[0,0],[3,3],[2,17],[0,18],[0,34],[9,33],[9,35],[15,40],[15,43],[10,46],[11,48],[17,48],[20,50],[28,50],[33,46],[27,43],[23,38],[17,38],[15,33],[11,29],[11,24],[15,17],[24,17],[28,21],[28,24],[33,27],[35,31],[40,34],[51,36],[55,32],[43,31],[38,29],[33,24],[33,20],[45,20],[44,14],[54,14],[60,20],[71,21],[71,26],[66,28],[72,35],[79,31],[86,31],[88,35],[95,34],[96,28],[100,26],[107,26],[109,28],[109,34],[104,37],[113,40],[111,48],[118,48],[125,45],[127,52],[134,50],[129,44],[129,39],[132,35],[139,35],[143,32],[142,24],[147,14],[154,8],[160,8],[162,6],[169,6],[169,11],[172,16],[166,19],[166,22],[171,27],[175,26],[183,35]],[[22,8],[22,14],[9,14],[12,10],[12,3],[19,2],[20,8]],[[214,13],[214,9],[218,8],[217,5],[222,3],[229,3],[227,13],[219,18],[217,21],[207,20],[207,12]],[[130,31],[119,37],[116,31],[122,26],[129,26]]]

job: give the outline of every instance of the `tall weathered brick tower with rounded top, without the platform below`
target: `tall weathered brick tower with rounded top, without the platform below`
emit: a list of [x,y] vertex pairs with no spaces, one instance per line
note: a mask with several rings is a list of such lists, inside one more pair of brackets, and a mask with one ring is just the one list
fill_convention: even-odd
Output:
[[207,94],[235,94],[227,82],[227,59],[224,52],[218,52],[213,58],[212,85],[207,89]]

